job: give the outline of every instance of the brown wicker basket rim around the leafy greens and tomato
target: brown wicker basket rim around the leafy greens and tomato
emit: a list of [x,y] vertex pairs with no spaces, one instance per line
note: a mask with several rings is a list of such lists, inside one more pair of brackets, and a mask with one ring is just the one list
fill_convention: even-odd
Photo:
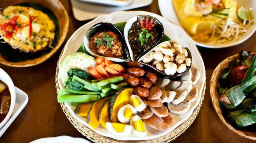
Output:
[[[253,53],[253,54],[256,54],[256,53]],[[219,86],[219,78],[222,75],[222,70],[225,68],[228,68],[230,66],[230,63],[238,58],[239,58],[239,54],[235,54],[231,57],[228,57],[225,60],[223,60],[221,63],[219,63],[219,65],[214,69],[213,74],[211,75],[211,81],[210,81],[211,102],[213,103],[213,107],[217,115],[219,116],[219,118],[222,120],[222,122],[226,126],[228,126],[229,129],[231,129],[231,131],[241,135],[242,137],[246,137],[251,140],[256,140],[255,133],[242,131],[231,126],[222,116],[221,108],[219,106],[217,87]]]

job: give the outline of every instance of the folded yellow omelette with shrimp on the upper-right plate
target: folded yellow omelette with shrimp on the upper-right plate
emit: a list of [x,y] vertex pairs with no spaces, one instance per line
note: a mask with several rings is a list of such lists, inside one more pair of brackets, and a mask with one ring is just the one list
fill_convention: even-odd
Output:
[[[180,24],[188,33],[201,40],[211,39],[213,27],[230,18],[237,21],[237,2],[236,0],[172,0]],[[228,17],[214,15],[215,11],[222,10],[228,12]],[[203,38],[203,39],[202,39]],[[198,40],[198,39],[197,39]],[[208,41],[209,42],[209,41]]]

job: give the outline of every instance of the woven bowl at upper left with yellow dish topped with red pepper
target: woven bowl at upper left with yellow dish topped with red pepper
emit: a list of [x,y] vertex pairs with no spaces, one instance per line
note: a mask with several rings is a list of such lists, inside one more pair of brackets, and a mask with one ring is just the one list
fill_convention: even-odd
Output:
[[69,18],[58,0],[7,0],[0,7],[0,63],[15,67],[37,65],[63,43]]

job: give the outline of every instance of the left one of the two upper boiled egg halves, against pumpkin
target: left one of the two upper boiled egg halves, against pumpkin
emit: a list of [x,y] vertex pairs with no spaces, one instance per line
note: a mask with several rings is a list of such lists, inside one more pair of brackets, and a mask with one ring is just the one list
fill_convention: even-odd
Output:
[[131,104],[121,107],[117,113],[117,118],[121,123],[129,123],[131,117],[137,114],[136,109]]

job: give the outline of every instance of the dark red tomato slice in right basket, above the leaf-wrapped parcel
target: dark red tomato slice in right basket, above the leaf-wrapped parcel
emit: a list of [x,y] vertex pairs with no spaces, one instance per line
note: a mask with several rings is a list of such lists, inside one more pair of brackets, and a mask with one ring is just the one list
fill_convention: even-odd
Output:
[[244,80],[246,72],[248,71],[249,66],[241,65],[237,66],[236,68],[232,69],[230,72],[231,83],[233,86],[241,83]]

